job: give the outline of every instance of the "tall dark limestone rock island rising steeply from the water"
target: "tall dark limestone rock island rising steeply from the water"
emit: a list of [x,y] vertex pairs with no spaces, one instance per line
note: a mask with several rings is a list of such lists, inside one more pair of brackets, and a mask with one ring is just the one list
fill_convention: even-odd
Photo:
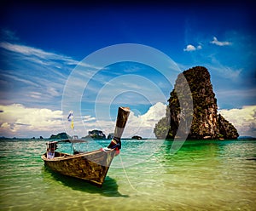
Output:
[[168,101],[166,117],[154,128],[157,138],[172,139],[189,134],[188,139],[237,139],[236,128],[217,113],[217,100],[207,68],[196,66],[178,75]]

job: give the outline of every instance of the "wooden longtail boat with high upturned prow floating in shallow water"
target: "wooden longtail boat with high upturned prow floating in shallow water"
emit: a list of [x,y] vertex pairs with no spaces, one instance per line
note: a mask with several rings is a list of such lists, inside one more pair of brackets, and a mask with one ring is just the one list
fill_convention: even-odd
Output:
[[[93,185],[102,187],[108,168],[113,157],[119,154],[121,148],[121,136],[127,122],[130,109],[119,107],[113,140],[108,147],[88,152],[75,151],[73,154],[55,151],[58,141],[47,143],[47,151],[42,159],[51,170],[67,176],[86,180]],[[83,140],[61,140],[62,142],[77,143]]]

